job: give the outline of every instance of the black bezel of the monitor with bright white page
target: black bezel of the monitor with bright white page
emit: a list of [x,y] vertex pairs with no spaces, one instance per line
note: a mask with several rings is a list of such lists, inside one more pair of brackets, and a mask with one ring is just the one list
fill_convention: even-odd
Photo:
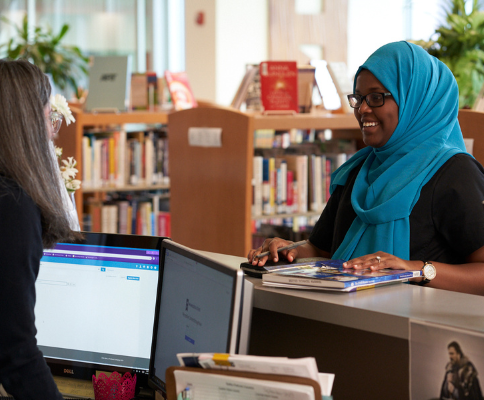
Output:
[[[80,241],[62,243],[153,249],[158,250],[161,255],[161,245],[163,241],[165,239],[170,239],[161,236],[129,235],[118,233],[81,232],[81,234],[83,235],[83,239]],[[148,340],[149,339],[151,339],[151,336],[148,338]],[[72,361],[61,358],[51,358],[46,355],[44,355],[44,360],[46,361],[54,377],[59,376],[80,380],[91,380],[92,376],[97,375],[99,372],[117,371],[121,374],[129,372],[131,375],[136,374],[136,387],[138,390],[141,388],[148,388],[148,371],[143,371],[139,368],[126,368],[89,361]]]

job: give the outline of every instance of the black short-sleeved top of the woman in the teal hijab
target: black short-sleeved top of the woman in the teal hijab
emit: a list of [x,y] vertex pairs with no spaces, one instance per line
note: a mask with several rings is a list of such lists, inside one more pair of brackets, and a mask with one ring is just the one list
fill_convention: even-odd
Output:
[[[331,255],[356,218],[351,191],[360,168],[335,189],[311,232],[310,242]],[[410,259],[465,263],[484,246],[483,201],[484,168],[467,154],[451,157],[422,188],[410,214]]]

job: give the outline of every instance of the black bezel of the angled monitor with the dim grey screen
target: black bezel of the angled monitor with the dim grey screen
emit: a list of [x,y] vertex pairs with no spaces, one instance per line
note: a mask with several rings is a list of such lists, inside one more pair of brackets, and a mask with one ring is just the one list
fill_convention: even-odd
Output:
[[[230,313],[230,332],[227,338],[226,350],[225,352],[234,354],[239,352],[239,344],[240,344],[240,337],[241,337],[241,324],[244,319],[243,313],[243,296],[244,296],[244,274],[240,269],[231,268],[225,264],[222,264],[213,258],[210,258],[204,255],[197,250],[190,249],[186,246],[183,246],[179,243],[170,241],[170,242],[163,242],[161,245],[160,251],[160,271],[158,274],[158,293],[156,296],[156,307],[155,307],[155,319],[154,319],[154,326],[153,326],[153,338],[151,341],[151,356],[150,356],[150,367],[148,371],[148,385],[161,393],[163,397],[166,398],[166,381],[165,376],[159,377],[154,372],[154,362],[155,362],[155,353],[157,347],[157,338],[158,338],[158,324],[159,324],[159,314],[160,314],[160,307],[161,307],[161,291],[163,287],[163,272],[164,272],[164,259],[166,250],[172,250],[190,258],[193,261],[199,262],[204,264],[210,268],[216,269],[217,271],[221,271],[230,275],[234,278],[233,282],[233,290],[232,290],[232,307]],[[250,304],[251,305],[251,304]],[[246,346],[244,345],[244,351],[246,350]]]

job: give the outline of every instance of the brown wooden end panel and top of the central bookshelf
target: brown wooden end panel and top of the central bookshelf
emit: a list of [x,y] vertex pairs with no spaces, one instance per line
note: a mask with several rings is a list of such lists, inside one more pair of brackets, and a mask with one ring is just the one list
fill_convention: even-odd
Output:
[[[352,114],[261,115],[198,107],[168,116],[173,240],[188,247],[245,256],[252,245],[252,169],[256,129],[332,129],[360,139]],[[190,145],[189,128],[221,128],[221,147]]]

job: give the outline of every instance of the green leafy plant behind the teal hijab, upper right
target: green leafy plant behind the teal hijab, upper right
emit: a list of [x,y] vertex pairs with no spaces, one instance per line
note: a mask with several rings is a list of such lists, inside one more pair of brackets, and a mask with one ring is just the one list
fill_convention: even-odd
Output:
[[484,84],[484,12],[473,0],[466,11],[465,0],[450,0],[445,24],[431,39],[416,40],[429,54],[444,62],[457,80],[459,106],[471,108]]

